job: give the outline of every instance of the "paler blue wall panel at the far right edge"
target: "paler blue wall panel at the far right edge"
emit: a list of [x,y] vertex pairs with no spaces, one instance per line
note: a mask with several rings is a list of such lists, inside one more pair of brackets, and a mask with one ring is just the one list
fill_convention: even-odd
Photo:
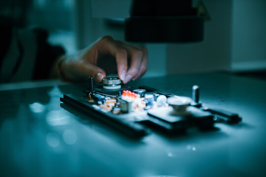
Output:
[[266,69],[266,0],[233,0],[233,70]]

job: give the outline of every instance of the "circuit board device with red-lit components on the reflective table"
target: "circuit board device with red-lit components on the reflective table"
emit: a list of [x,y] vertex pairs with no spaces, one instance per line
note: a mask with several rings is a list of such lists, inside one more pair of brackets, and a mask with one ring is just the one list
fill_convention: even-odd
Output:
[[131,137],[143,137],[149,129],[166,133],[183,132],[189,128],[213,128],[217,121],[238,123],[235,113],[211,109],[199,102],[199,87],[192,87],[192,98],[166,93],[146,86],[133,88],[117,77],[103,79],[103,84],[89,84],[84,97],[64,94],[67,105],[86,111]]

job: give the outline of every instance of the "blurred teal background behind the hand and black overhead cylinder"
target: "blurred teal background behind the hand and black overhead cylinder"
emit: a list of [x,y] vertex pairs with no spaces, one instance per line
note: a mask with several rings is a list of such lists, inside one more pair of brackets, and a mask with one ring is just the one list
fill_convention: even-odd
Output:
[[[204,4],[204,40],[193,43],[132,43],[149,50],[144,77],[227,71],[265,78],[266,1],[193,0]],[[0,14],[19,28],[42,27],[48,41],[75,53],[103,35],[124,41],[132,0],[1,0]],[[141,28],[141,27],[139,27]]]

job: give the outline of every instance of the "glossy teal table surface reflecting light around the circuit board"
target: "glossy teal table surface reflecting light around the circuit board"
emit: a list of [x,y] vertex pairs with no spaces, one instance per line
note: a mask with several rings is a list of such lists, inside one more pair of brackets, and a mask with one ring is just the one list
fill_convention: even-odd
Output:
[[0,177],[259,177],[266,175],[266,82],[219,73],[141,79],[238,113],[238,124],[130,139],[59,100],[86,84],[0,91]]

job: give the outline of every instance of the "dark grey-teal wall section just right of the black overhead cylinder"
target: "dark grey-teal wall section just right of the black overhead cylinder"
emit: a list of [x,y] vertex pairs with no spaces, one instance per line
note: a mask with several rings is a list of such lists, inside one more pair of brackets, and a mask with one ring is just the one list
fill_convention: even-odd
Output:
[[193,73],[230,67],[231,0],[204,0],[211,21],[204,24],[204,41],[167,45],[167,73]]

